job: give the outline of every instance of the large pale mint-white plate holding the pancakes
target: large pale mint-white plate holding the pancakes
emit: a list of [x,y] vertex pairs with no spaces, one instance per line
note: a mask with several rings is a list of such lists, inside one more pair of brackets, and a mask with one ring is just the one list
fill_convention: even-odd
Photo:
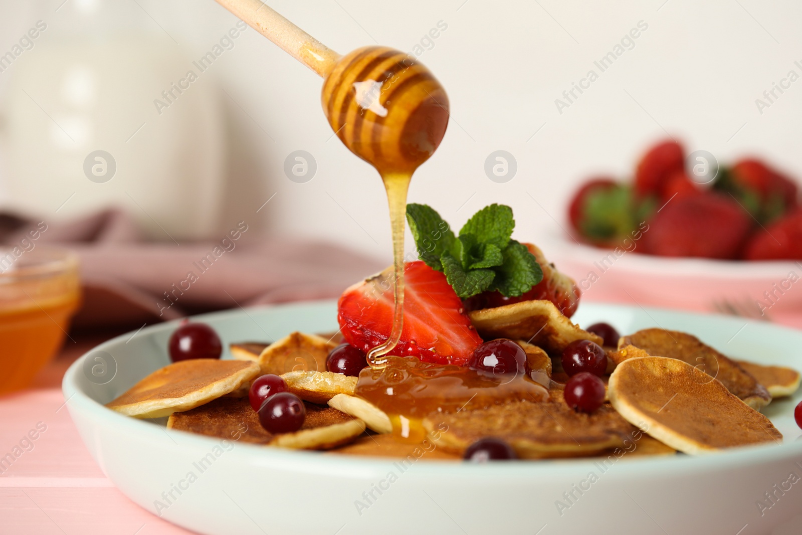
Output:
[[[335,310],[334,302],[299,303],[198,319],[227,346],[292,330],[333,330]],[[765,322],[592,303],[583,304],[575,319],[581,325],[608,321],[622,332],[655,325],[686,330],[727,355],[802,364],[802,333]],[[70,367],[63,391],[84,443],[109,479],[144,509],[159,509],[161,517],[198,533],[802,533],[802,516],[795,517],[802,510],[802,482],[776,490],[788,486],[789,473],[802,475],[802,432],[793,419],[802,392],[764,411],[785,436],[780,445],[708,456],[624,455],[606,467],[599,459],[484,465],[420,460],[404,467],[394,460],[168,432],[163,424],[103,407],[169,362],[167,340],[175,327],[152,326],[103,343]],[[106,384],[97,384],[107,380],[99,379],[103,369],[92,375],[98,365],[106,366]],[[214,460],[201,472],[198,462],[209,454]],[[591,472],[597,479],[592,484]],[[172,492],[172,499],[163,492]],[[375,500],[365,497],[370,492]],[[564,492],[576,499],[566,501]],[[773,505],[765,492],[776,492]],[[358,510],[358,501],[367,509]],[[558,511],[557,501],[569,509]],[[759,501],[771,509],[761,514]]]

